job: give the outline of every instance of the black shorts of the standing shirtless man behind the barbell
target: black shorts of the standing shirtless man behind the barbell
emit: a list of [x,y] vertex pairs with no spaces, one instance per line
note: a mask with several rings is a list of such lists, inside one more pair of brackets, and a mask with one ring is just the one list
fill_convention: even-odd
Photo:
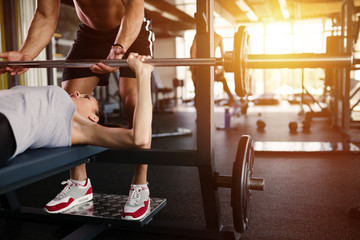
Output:
[[[120,27],[120,26],[119,26]],[[106,59],[109,55],[111,46],[114,44],[119,27],[111,31],[97,31],[81,23],[77,31],[73,46],[71,47],[66,59]],[[153,57],[154,33],[152,31],[151,19],[145,16],[141,26],[139,36],[124,55],[126,59],[130,52]],[[110,74],[96,74],[88,68],[65,68],[62,81],[75,78],[97,76],[100,78],[99,85],[104,86],[109,83]],[[135,77],[135,73],[128,67],[120,68],[121,77]]]

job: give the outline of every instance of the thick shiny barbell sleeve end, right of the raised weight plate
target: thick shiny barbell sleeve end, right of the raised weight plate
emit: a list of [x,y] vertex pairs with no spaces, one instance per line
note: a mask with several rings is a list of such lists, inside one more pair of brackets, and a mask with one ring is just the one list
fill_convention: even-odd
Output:
[[247,68],[326,68],[351,67],[350,55],[329,55],[316,53],[300,54],[251,54],[246,60]]

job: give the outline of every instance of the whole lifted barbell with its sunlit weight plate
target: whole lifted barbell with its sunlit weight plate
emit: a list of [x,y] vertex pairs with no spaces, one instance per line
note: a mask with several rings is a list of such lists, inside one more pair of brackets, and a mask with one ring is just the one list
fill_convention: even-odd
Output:
[[[234,72],[235,92],[244,97],[250,92],[250,68],[347,68],[360,64],[347,54],[248,54],[249,35],[245,26],[234,34],[233,51],[227,51],[224,58],[153,58],[145,62],[156,67],[171,66],[224,66],[226,72]],[[127,67],[125,59],[45,60],[0,62],[0,68],[22,66],[25,68],[88,68],[102,62],[111,67]]]

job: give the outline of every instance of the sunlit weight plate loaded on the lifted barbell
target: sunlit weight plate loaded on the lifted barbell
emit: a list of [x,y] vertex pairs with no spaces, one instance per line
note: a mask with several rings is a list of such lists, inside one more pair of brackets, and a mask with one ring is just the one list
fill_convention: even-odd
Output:
[[244,97],[250,92],[250,78],[246,66],[248,56],[249,35],[246,26],[240,26],[234,34],[233,69],[235,79],[235,92]]

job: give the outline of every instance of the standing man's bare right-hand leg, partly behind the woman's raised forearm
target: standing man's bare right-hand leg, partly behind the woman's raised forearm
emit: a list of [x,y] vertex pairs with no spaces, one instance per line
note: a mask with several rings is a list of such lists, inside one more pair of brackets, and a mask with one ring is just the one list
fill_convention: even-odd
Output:
[[[124,105],[124,110],[126,113],[126,119],[128,122],[128,127],[132,127],[134,110],[137,100],[137,89],[136,89],[136,79],[135,78],[126,78],[120,77],[119,80],[119,92],[121,100]],[[150,143],[144,148],[150,148]],[[147,183],[147,164],[137,164],[135,165],[134,177],[132,180],[133,184],[146,184]]]

